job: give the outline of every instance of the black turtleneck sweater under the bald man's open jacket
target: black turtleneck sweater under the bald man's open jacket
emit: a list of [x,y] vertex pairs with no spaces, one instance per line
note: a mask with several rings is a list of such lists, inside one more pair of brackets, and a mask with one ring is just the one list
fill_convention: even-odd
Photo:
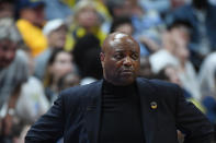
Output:
[[104,81],[100,143],[144,143],[136,85],[114,86]]

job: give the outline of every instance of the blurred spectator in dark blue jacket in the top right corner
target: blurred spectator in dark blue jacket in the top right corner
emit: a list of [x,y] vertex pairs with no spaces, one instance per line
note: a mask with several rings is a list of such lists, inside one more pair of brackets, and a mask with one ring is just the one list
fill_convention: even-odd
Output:
[[180,7],[168,16],[168,22],[184,20],[192,25],[190,52],[197,70],[205,56],[216,49],[214,13],[216,13],[216,5],[211,4],[208,0],[192,0],[192,3]]

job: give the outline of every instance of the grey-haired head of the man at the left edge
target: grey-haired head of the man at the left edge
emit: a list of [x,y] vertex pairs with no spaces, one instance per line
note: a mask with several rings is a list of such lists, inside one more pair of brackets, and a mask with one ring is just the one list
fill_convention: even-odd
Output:
[[0,69],[3,69],[13,61],[21,36],[11,19],[1,19],[0,27]]

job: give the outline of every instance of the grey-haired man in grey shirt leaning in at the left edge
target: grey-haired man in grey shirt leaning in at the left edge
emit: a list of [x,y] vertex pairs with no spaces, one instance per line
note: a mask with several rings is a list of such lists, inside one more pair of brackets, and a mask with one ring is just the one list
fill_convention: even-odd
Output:
[[27,64],[20,47],[21,36],[12,19],[0,19],[0,142],[12,140],[14,108]]

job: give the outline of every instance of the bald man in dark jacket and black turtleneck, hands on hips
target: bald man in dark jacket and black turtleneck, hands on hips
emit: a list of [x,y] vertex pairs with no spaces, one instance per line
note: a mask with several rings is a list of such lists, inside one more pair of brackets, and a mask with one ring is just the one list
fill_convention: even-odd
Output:
[[62,91],[49,111],[32,126],[26,143],[209,143],[213,127],[170,83],[137,78],[139,46],[113,33],[100,55],[104,79]]

